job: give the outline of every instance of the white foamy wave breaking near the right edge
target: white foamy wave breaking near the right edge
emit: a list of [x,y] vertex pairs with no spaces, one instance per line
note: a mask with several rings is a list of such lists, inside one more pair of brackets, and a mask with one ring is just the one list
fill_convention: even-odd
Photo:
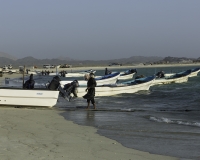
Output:
[[172,120],[169,118],[165,117],[153,117],[150,116],[149,120],[154,121],[154,122],[159,122],[159,123],[171,123],[171,124],[178,124],[178,125],[186,125],[186,126],[194,126],[194,127],[200,127],[199,122],[194,122],[194,121],[183,121],[183,120]]

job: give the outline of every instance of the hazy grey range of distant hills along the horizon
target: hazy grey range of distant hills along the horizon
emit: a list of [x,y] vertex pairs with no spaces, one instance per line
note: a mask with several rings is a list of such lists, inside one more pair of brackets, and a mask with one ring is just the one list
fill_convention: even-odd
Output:
[[[1,52],[2,53],[2,52]],[[6,54],[7,55],[7,54]],[[12,57],[12,56],[11,56]],[[21,59],[11,59],[0,57],[0,67],[4,65],[12,64],[13,67],[18,68],[19,66],[38,66],[42,67],[43,64],[59,65],[59,64],[70,64],[73,67],[83,66],[108,66],[111,63],[120,63],[122,65],[135,65],[135,64],[166,64],[166,63],[193,63],[199,62],[199,59],[184,58],[184,57],[156,57],[156,56],[132,56],[129,58],[121,59],[110,59],[110,60],[73,60],[68,57],[59,57],[56,59],[36,59],[34,57],[24,57]]]

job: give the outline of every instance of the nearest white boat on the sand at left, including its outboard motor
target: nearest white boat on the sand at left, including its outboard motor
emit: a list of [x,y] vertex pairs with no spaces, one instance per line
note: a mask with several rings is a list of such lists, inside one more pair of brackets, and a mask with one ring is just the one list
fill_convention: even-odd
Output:
[[59,95],[70,101],[70,96],[60,86],[58,76],[46,88],[24,89],[23,87],[1,87],[0,105],[53,107]]

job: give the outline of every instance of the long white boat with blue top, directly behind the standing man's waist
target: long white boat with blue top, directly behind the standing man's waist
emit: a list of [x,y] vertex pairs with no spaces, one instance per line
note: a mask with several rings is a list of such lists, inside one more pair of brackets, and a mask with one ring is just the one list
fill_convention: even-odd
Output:
[[[135,93],[141,90],[149,90],[152,82],[154,81],[155,76],[149,76],[140,79],[134,79],[131,81],[116,83],[116,84],[107,84],[95,87],[95,96],[112,96],[123,93]],[[86,86],[77,87],[78,97],[82,97],[86,94]]]

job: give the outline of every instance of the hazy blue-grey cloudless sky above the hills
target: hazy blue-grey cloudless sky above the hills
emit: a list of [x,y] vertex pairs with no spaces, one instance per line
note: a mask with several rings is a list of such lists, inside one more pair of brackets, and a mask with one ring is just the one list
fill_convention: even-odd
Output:
[[200,0],[0,0],[0,52],[198,58]]

